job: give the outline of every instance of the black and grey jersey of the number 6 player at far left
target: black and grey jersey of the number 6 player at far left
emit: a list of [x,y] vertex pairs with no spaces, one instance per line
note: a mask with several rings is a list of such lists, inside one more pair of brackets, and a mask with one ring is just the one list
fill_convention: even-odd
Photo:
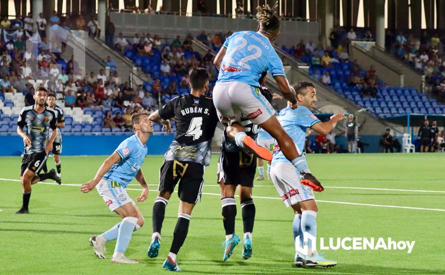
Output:
[[26,106],[21,109],[18,116],[17,125],[20,128],[26,126],[26,134],[31,139],[31,145],[25,147],[24,153],[42,152],[46,149],[46,143],[49,140],[49,128],[57,128],[56,111],[45,107],[38,113],[34,110],[34,105]]

